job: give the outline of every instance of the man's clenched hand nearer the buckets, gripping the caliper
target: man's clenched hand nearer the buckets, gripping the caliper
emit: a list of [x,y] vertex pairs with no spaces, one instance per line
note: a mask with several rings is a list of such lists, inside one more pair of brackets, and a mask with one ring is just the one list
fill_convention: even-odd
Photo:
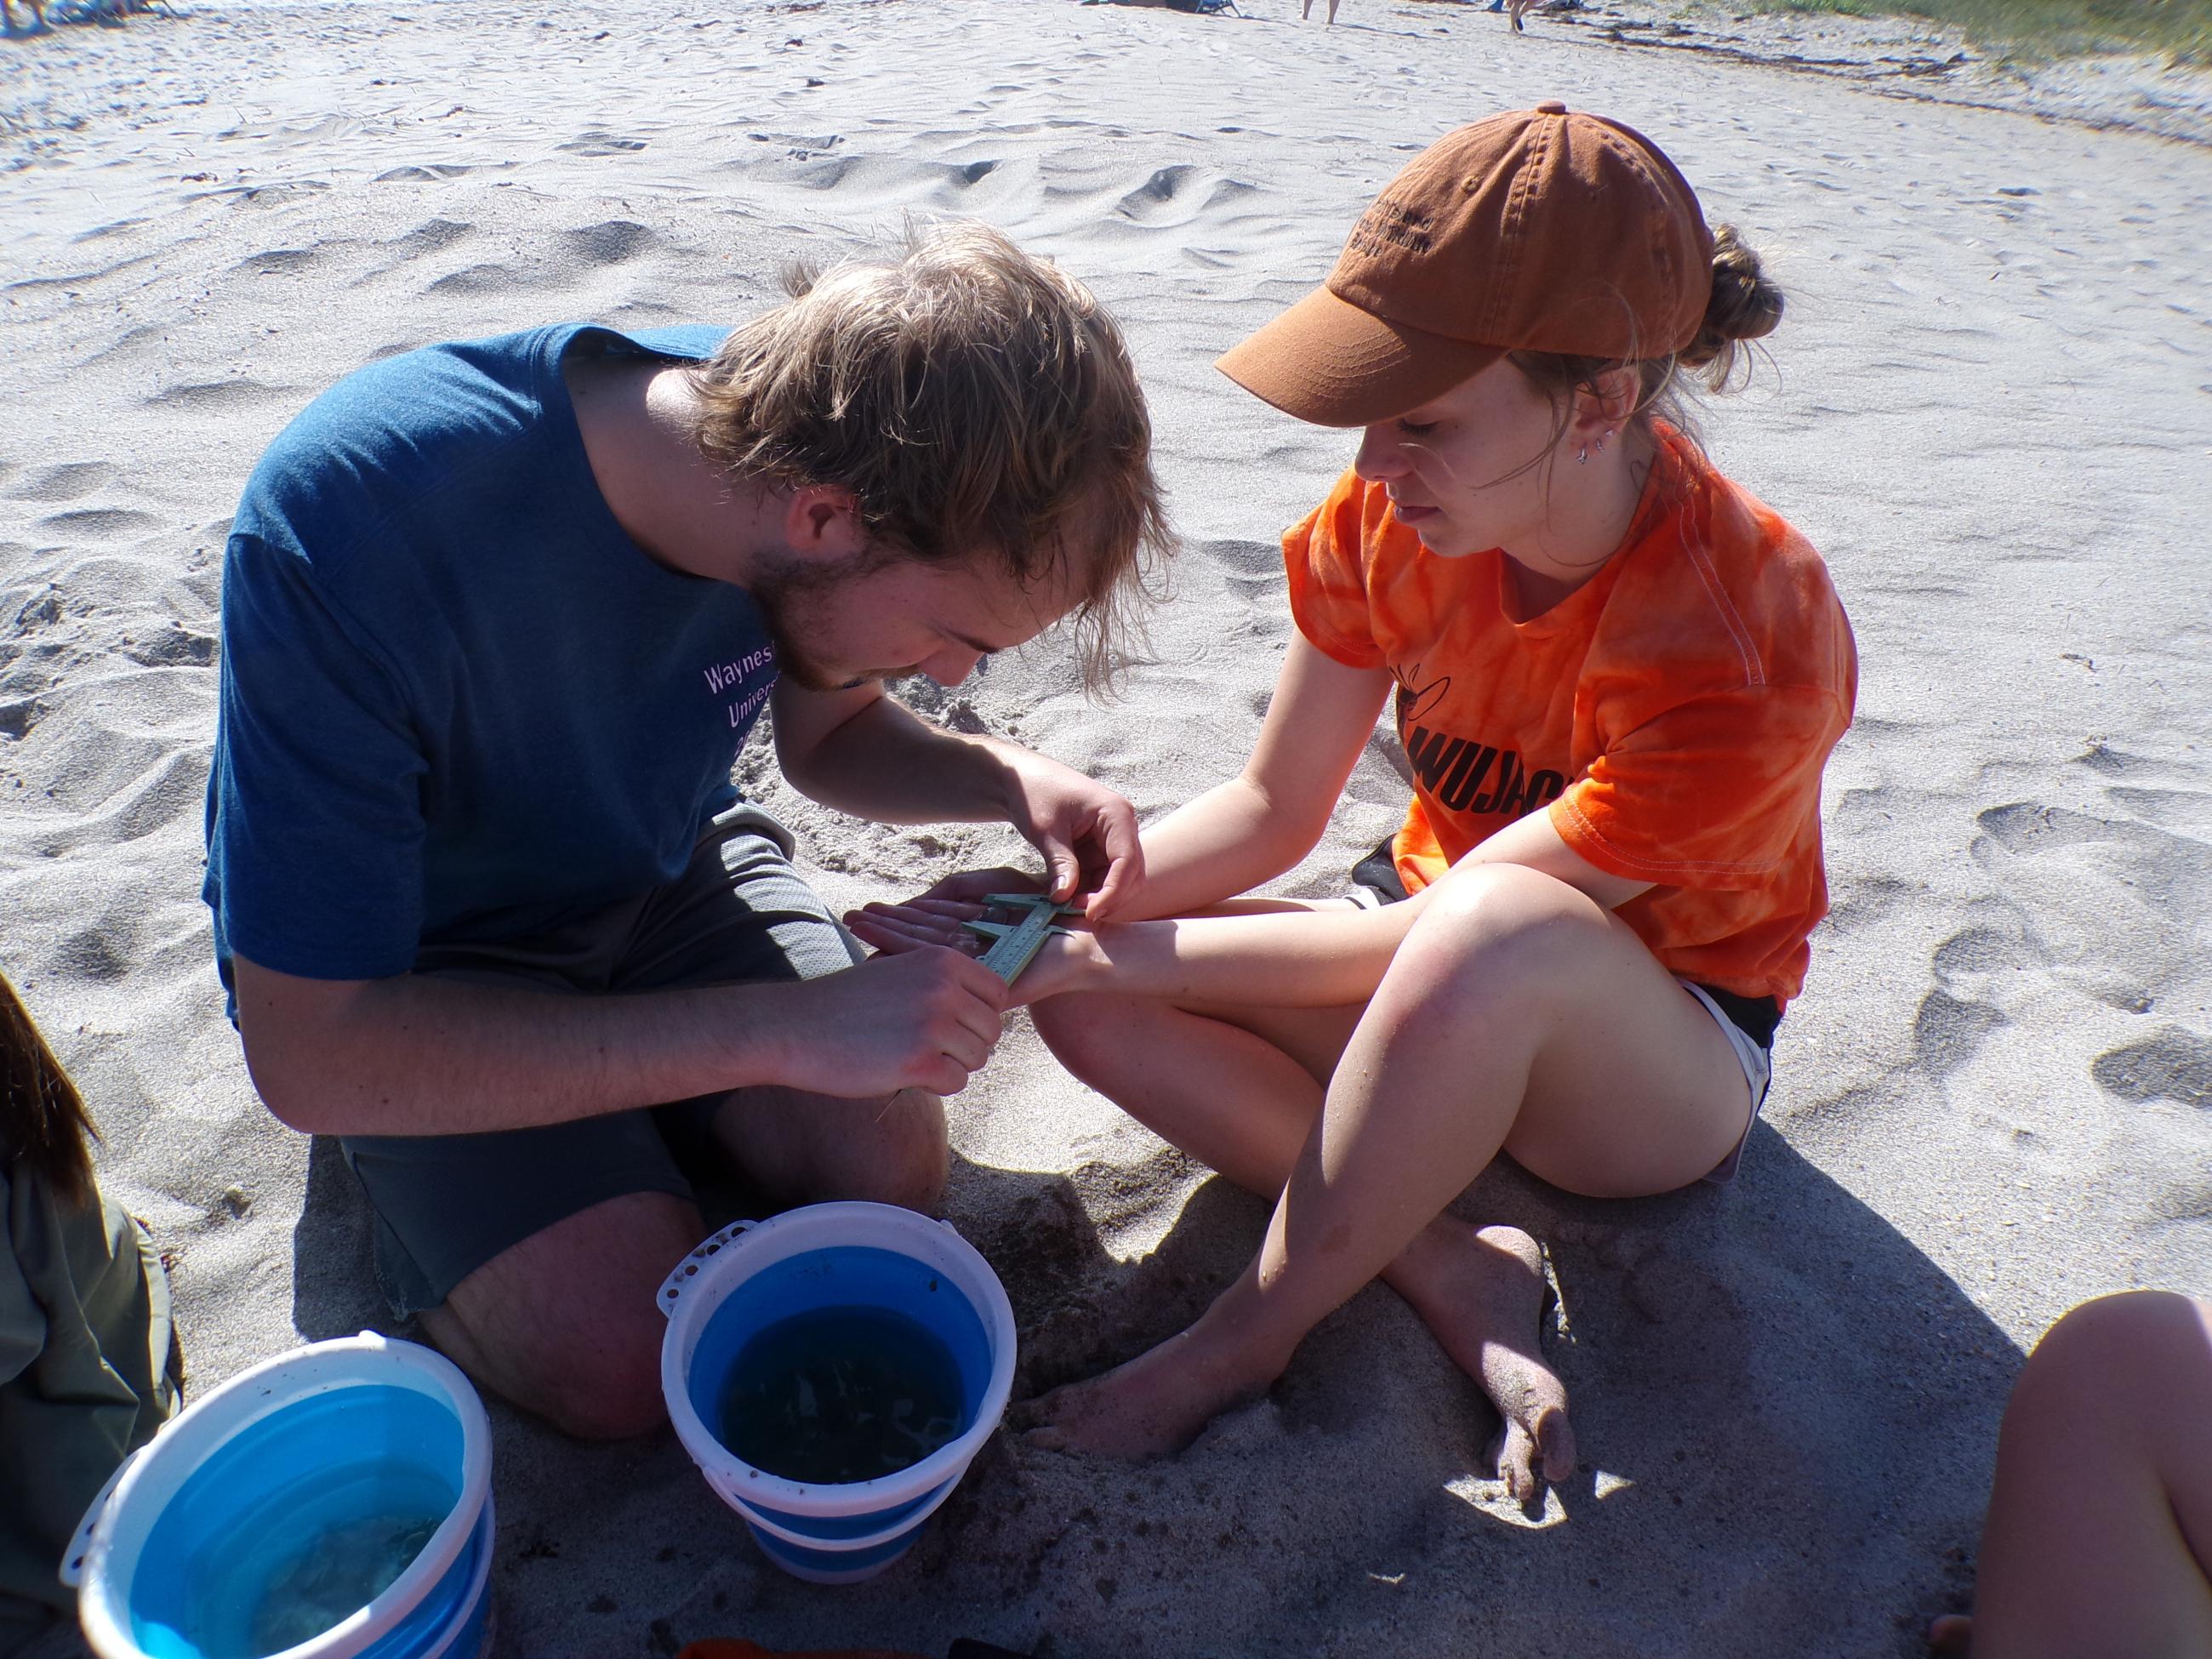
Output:
[[1000,1015],[1011,1006],[991,969],[942,945],[876,956],[821,980],[752,989],[779,1002],[776,1082],[847,1099],[898,1088],[960,1093],[991,1057]]

